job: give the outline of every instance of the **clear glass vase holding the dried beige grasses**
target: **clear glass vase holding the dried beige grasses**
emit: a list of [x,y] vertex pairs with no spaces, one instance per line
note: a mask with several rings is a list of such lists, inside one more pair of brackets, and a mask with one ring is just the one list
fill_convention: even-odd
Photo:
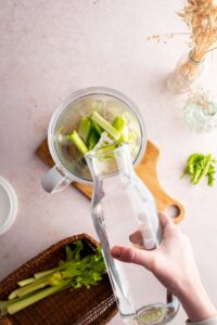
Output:
[[201,76],[205,60],[195,61],[192,58],[192,51],[184,53],[178,61],[175,70],[168,76],[167,87],[174,93],[188,91],[191,84]]

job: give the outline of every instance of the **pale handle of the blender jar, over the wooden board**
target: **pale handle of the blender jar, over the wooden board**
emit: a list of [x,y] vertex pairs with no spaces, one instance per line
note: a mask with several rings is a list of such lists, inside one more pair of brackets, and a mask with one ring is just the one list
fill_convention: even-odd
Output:
[[72,180],[58,166],[51,168],[41,179],[41,185],[48,193],[63,191],[69,183],[72,183]]

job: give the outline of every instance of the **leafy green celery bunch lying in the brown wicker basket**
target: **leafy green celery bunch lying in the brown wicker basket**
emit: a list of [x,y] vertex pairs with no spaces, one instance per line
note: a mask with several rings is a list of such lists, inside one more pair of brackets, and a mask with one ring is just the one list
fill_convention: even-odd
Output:
[[[20,310],[66,288],[76,289],[81,286],[89,288],[102,280],[106,273],[102,252],[98,247],[94,255],[81,256],[84,245],[77,240],[72,249],[66,248],[65,261],[60,261],[55,269],[39,272],[42,276],[33,283],[11,292],[8,301],[0,301],[0,314],[14,314]],[[36,273],[37,274],[37,273]],[[26,280],[26,282],[28,282]],[[42,288],[43,287],[43,288]],[[18,297],[18,298],[16,298]]]

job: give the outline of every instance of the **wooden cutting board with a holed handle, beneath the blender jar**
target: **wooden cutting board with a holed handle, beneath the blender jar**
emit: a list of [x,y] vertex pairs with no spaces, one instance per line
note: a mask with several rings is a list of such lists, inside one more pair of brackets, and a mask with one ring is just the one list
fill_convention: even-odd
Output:
[[[53,159],[50,155],[48,141],[47,139],[42,142],[42,144],[37,150],[37,155],[39,158],[49,166],[53,166]],[[157,209],[162,212],[166,212],[166,210],[171,207],[174,211],[176,211],[176,216],[174,217],[174,222],[179,223],[184,216],[184,208],[183,206],[173,197],[170,197],[161,186],[157,172],[156,172],[156,165],[157,159],[159,156],[159,150],[151,142],[148,141],[146,151],[144,156],[137,167],[136,171],[140,179],[145,183],[149,190],[155,197]],[[73,186],[78,188],[81,193],[84,193],[87,197],[91,198],[92,187],[73,182]]]

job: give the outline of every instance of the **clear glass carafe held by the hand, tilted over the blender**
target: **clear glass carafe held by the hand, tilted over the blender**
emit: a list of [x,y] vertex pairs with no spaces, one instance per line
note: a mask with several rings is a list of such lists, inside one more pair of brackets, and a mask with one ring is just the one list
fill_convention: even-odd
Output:
[[131,246],[139,232],[142,249],[155,249],[162,231],[152,194],[133,171],[128,144],[86,154],[94,182],[91,213],[101,242],[119,313],[126,324],[167,324],[177,313],[176,297],[144,268],[111,256],[114,245]]

